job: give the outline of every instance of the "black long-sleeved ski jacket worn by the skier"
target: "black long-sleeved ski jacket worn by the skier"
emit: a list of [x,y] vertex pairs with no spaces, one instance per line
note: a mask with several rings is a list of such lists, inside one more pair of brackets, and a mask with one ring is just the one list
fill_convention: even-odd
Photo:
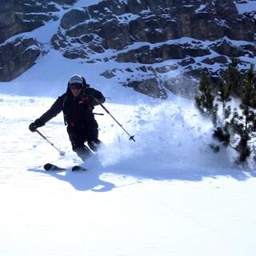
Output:
[[[95,101],[94,98],[98,101]],[[44,126],[51,118],[63,111],[65,124],[68,126],[87,126],[94,123],[94,106],[105,102],[102,93],[93,88],[84,88],[78,97],[74,97],[70,89],[58,97],[54,104],[42,114],[35,122],[38,126]]]

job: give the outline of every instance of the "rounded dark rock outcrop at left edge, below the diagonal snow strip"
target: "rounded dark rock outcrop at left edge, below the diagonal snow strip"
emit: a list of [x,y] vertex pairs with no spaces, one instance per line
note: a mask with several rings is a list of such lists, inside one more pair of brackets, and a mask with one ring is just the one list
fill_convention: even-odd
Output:
[[34,65],[40,45],[34,38],[17,38],[0,46],[0,81],[9,82]]

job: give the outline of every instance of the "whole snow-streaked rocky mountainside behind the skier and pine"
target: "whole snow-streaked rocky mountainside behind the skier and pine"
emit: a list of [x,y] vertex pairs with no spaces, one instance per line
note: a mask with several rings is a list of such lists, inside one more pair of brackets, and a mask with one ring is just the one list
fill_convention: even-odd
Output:
[[[255,1],[238,0],[2,2],[0,81],[55,50],[66,58],[60,62],[90,64],[105,83],[190,98],[202,68],[216,76],[230,58],[241,69],[255,63],[255,12]],[[41,33],[49,27],[46,40]]]

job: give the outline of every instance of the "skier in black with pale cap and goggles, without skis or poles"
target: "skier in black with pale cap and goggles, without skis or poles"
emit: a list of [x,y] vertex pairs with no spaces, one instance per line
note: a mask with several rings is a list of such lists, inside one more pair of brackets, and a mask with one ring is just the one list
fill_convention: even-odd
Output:
[[[92,110],[94,106],[103,102],[105,98],[100,91],[90,88],[81,75],[74,74],[70,77],[66,93],[58,97],[45,114],[32,122],[29,129],[34,132],[63,111],[72,149],[82,161],[85,161],[90,157],[90,150],[97,151],[101,144],[98,139],[98,123]],[[85,142],[90,149],[84,144]]]

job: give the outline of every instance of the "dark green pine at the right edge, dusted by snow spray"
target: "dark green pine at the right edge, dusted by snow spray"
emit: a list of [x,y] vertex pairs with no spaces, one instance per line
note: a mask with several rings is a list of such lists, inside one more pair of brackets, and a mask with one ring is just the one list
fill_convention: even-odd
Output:
[[[246,162],[250,154],[256,150],[256,74],[254,66],[246,72],[246,76],[239,74],[238,62],[230,63],[222,78],[218,80],[218,94],[206,72],[202,72],[199,83],[199,95],[195,98],[200,112],[211,118],[214,123],[214,137],[224,146],[231,146],[239,153],[239,161]],[[241,104],[238,109],[231,109],[228,104],[231,96],[239,98]],[[214,105],[214,102],[218,104]],[[220,108],[220,115],[217,114]],[[230,141],[239,138],[237,146],[230,145]]]

